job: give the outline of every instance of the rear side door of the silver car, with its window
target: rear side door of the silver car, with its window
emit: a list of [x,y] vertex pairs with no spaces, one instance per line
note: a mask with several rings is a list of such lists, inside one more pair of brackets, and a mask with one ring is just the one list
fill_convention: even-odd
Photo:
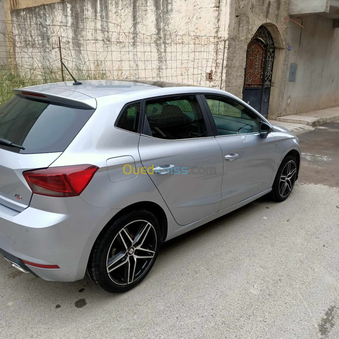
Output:
[[179,225],[216,213],[221,202],[222,153],[200,96],[145,100],[141,163]]

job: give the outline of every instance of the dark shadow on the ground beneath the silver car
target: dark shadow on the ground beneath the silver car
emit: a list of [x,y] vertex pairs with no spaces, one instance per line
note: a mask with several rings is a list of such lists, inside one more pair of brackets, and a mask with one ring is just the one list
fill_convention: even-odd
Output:
[[[166,261],[165,258],[176,255],[178,251],[182,252],[183,246],[186,246],[186,250],[187,246],[189,246],[189,251],[195,252],[197,246],[200,246],[199,242],[196,242],[195,239],[203,238],[206,243],[213,241],[213,235],[220,233],[221,229],[224,231],[225,227],[236,227],[233,223],[235,220],[241,218],[242,215],[248,214],[253,208],[257,208],[258,205],[263,203],[267,207],[272,204],[268,197],[261,197],[259,200],[245,205],[236,211],[165,242],[160,249],[155,267],[149,276],[154,276],[154,274],[161,275],[163,270],[166,271],[167,268],[162,265]],[[67,304],[71,302],[76,307],[81,308],[87,304],[85,297],[88,298],[88,296],[95,300],[96,306],[99,306],[107,298],[124,298],[124,294],[110,294],[101,290],[86,277],[75,282],[45,281],[32,274],[24,274],[17,271],[9,266],[5,260],[0,260],[0,269],[0,281],[5,286],[5,290],[11,290],[11,292],[7,291],[7,293],[12,294],[14,298],[25,293],[26,297],[29,299],[34,298],[36,302],[40,301],[42,304],[55,303],[56,308],[62,307],[62,302],[67,302]],[[146,277],[142,284],[147,284],[148,280],[148,277]]]

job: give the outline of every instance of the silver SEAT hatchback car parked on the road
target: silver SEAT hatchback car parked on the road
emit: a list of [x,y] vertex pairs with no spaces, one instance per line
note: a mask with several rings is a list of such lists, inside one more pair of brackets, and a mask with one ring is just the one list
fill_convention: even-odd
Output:
[[0,107],[0,252],[45,280],[123,292],[160,244],[265,194],[286,199],[300,148],[230,93],[83,81]]

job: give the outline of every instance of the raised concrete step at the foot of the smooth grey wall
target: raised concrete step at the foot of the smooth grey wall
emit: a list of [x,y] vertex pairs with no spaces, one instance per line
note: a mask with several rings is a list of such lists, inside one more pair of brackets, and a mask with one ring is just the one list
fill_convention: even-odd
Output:
[[318,111],[311,111],[297,115],[285,115],[276,119],[276,121],[303,124],[313,127],[335,120],[339,120],[339,107],[320,109]]

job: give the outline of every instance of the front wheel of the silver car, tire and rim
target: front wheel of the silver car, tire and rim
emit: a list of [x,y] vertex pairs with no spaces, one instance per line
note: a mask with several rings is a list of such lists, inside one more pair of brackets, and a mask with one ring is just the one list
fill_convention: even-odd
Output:
[[[290,166],[290,167],[289,167]],[[271,191],[271,198],[281,202],[291,194],[298,173],[297,159],[290,155],[284,158],[279,166]]]

